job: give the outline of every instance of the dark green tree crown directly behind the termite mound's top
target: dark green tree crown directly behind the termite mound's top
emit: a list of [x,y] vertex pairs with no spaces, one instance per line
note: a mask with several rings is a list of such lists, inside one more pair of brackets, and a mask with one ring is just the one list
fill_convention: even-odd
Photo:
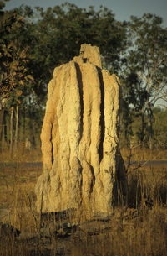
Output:
[[36,8],[33,12],[24,7],[18,12],[28,18],[29,33],[33,37],[33,77],[43,86],[48,84],[56,66],[79,54],[83,43],[99,46],[105,63],[118,71],[120,52],[125,47],[125,28],[109,9],[101,7],[96,12],[92,7],[86,10],[65,3],[46,11]]

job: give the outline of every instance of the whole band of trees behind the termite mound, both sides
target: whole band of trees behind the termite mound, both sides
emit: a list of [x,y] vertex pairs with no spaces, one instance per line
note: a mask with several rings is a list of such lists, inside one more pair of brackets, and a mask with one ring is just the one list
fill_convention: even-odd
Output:
[[80,44],[99,46],[103,67],[119,76],[123,106],[120,144],[167,148],[167,28],[144,14],[120,22],[108,8],[21,6],[0,3],[0,149],[40,146],[40,129],[53,69],[78,55]]

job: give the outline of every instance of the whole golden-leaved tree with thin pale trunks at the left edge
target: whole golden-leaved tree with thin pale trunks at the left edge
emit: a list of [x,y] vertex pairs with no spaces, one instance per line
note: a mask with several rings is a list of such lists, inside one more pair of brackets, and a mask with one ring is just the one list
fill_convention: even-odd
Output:
[[[0,19],[0,138],[3,131],[4,107],[11,109],[11,139],[13,139],[13,110],[16,107],[15,145],[18,140],[18,106],[23,87],[33,81],[28,69],[28,44],[25,44],[25,23],[15,12],[2,12]],[[11,154],[13,141],[11,141]]]

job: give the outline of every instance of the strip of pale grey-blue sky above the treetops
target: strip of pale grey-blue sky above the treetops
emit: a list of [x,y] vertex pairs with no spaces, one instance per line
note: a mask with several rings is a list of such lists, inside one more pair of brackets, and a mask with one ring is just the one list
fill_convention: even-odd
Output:
[[164,20],[167,27],[167,0],[10,0],[6,2],[6,10],[18,8],[21,4],[31,7],[54,7],[62,3],[73,3],[79,8],[94,6],[96,10],[103,5],[115,14],[119,21],[128,21],[131,15],[141,17],[144,13],[153,13]]

